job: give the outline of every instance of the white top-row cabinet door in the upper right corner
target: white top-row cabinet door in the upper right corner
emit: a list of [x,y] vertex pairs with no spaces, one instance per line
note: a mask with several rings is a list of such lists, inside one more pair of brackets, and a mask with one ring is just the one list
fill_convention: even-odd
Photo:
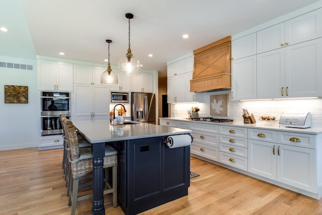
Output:
[[322,9],[303,14],[285,22],[285,43],[296,43],[322,37]]

